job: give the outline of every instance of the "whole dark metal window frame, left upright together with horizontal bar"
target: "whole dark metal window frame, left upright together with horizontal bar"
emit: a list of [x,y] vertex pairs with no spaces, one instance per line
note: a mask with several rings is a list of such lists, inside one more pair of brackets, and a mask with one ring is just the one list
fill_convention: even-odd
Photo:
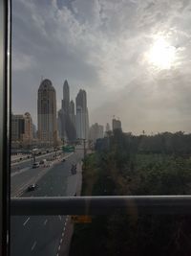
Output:
[[[0,255],[8,255],[10,213],[20,215],[191,214],[191,196],[11,198],[11,0],[0,1]],[[11,204],[11,205],[10,205]],[[10,208],[11,207],[11,208]]]

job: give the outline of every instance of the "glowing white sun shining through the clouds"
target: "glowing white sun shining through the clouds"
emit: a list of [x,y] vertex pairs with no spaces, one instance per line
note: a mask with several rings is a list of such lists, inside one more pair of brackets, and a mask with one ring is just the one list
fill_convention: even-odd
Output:
[[156,39],[146,57],[159,69],[170,69],[175,61],[176,47],[170,45],[164,37]]

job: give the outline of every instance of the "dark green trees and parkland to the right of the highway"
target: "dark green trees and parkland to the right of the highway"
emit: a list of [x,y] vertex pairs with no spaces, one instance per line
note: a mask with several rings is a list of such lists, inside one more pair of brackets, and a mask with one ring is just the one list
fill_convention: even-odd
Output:
[[[82,196],[190,195],[191,134],[117,129],[83,163]],[[190,255],[191,219],[116,211],[77,223],[70,255]]]

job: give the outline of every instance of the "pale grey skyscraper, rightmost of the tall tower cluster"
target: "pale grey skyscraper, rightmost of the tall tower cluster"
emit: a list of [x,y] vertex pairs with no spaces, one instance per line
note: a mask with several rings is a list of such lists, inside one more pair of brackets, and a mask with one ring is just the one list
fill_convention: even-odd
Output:
[[87,95],[85,90],[79,90],[76,98],[76,137],[79,139],[88,139],[89,133],[89,115],[87,107]]

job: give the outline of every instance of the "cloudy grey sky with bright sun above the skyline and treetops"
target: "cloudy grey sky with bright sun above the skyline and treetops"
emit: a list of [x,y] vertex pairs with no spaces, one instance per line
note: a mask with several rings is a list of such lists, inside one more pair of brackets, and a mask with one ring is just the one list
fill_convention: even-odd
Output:
[[191,132],[191,1],[12,1],[12,111],[35,124],[42,77],[57,110],[85,89],[91,124]]

